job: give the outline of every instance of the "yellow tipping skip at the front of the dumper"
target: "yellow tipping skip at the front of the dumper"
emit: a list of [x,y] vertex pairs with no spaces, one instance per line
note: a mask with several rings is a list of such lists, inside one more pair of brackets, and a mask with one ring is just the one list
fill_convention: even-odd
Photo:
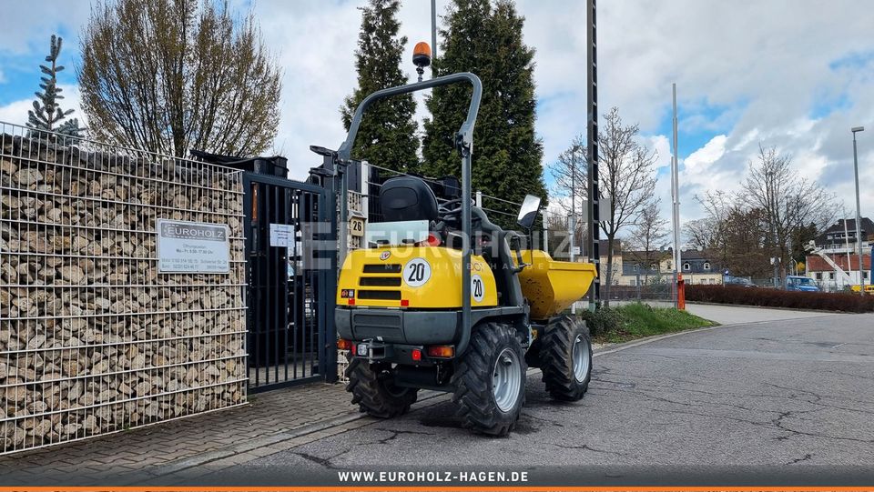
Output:
[[522,261],[529,264],[519,273],[522,293],[531,305],[532,319],[546,319],[564,311],[585,296],[595,279],[595,265],[555,261],[538,249],[522,251]]

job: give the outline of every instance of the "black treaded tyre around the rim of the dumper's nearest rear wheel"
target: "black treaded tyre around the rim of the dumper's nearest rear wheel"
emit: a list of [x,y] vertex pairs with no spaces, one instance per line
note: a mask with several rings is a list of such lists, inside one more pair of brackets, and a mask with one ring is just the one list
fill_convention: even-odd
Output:
[[[515,351],[522,371],[520,395],[508,412],[497,406],[493,393],[494,365],[497,356],[506,347]],[[456,415],[462,418],[462,427],[489,436],[509,434],[519,420],[525,403],[526,371],[522,344],[510,326],[494,322],[474,326],[470,345],[452,374],[452,385],[455,387],[452,401],[459,406]]]

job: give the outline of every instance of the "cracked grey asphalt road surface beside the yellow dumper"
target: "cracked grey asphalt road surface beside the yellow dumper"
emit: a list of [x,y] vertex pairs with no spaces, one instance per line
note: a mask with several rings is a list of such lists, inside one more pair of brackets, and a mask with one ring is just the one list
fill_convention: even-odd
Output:
[[[225,470],[208,481],[362,469],[529,470],[575,483],[874,474],[874,315],[723,326],[607,351],[582,401],[529,377],[510,437],[469,434],[442,402]],[[750,475],[742,470],[754,470]],[[834,472],[838,475],[834,475]],[[539,475],[538,475],[539,474]],[[692,474],[692,475],[690,475]],[[867,477],[867,478],[865,478]],[[676,478],[679,480],[679,478]],[[721,481],[720,481],[721,480]],[[682,480],[680,480],[682,481]],[[755,480],[754,480],[755,481]],[[673,483],[673,482],[670,482]],[[871,483],[870,481],[868,482]]]

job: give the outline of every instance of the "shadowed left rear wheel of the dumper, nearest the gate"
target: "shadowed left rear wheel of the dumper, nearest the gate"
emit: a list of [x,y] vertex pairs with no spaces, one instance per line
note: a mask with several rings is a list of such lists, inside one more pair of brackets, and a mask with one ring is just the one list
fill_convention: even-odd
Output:
[[419,390],[395,386],[390,364],[369,364],[354,358],[346,368],[346,377],[349,378],[346,391],[352,394],[352,404],[358,404],[361,412],[372,417],[399,417],[416,402]]

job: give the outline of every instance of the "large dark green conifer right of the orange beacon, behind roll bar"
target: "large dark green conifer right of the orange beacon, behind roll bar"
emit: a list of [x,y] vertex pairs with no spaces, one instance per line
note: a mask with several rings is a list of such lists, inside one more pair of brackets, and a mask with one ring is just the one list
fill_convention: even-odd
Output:
[[[523,43],[524,18],[511,0],[453,0],[444,22],[436,74],[473,72],[483,80],[473,132],[473,189],[513,202],[526,194],[545,198],[543,145],[534,133],[534,49]],[[452,136],[467,115],[471,92],[466,85],[448,85],[426,99],[432,117],[424,125],[424,174],[461,176]],[[515,222],[516,206],[487,206],[513,216],[493,220]]]

